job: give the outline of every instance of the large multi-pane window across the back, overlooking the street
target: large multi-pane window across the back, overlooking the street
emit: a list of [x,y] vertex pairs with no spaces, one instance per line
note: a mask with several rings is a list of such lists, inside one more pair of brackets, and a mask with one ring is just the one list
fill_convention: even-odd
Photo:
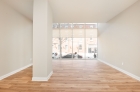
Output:
[[53,59],[94,59],[97,57],[97,24],[53,24]]

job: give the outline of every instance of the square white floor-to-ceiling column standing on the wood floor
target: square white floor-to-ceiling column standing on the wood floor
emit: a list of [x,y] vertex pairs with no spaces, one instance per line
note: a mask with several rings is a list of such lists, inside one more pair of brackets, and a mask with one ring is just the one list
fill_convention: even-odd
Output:
[[48,0],[34,0],[33,81],[47,81],[52,75],[52,12]]

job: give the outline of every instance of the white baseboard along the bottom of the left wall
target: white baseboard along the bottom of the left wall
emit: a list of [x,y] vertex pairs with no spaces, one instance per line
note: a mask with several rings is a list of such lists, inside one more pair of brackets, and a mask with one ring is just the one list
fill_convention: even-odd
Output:
[[22,70],[24,70],[24,69],[26,69],[26,68],[28,68],[30,66],[32,66],[32,64],[26,65],[26,66],[24,66],[22,68],[19,68],[19,69],[15,70],[15,71],[12,71],[12,72],[10,72],[8,74],[5,74],[5,75],[0,77],[0,80],[3,80],[4,78],[7,78],[7,77],[9,77],[9,76],[11,76],[11,75],[13,75],[15,73],[18,73],[18,72],[20,72],[20,71],[22,71]]

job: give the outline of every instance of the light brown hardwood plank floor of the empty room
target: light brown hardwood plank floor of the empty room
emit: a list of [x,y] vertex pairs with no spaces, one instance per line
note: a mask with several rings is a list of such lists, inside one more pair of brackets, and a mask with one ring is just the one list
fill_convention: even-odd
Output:
[[0,92],[140,92],[140,82],[96,60],[54,60],[48,82],[32,82],[32,67],[0,81]]

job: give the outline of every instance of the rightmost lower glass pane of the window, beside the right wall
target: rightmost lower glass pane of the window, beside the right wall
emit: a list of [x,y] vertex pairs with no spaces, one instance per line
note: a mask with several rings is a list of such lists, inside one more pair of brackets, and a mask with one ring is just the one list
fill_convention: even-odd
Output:
[[86,38],[86,59],[97,57],[97,38]]

